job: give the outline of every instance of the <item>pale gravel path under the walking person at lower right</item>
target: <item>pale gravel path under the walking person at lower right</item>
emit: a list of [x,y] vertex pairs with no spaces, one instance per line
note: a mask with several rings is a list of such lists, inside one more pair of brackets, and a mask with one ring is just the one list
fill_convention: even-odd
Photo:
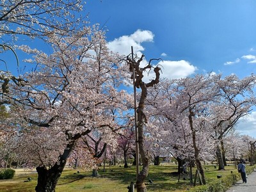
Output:
[[228,189],[226,192],[254,192],[256,191],[256,172],[252,172],[250,175],[246,175],[247,183],[244,184],[243,180],[236,182],[234,186]]

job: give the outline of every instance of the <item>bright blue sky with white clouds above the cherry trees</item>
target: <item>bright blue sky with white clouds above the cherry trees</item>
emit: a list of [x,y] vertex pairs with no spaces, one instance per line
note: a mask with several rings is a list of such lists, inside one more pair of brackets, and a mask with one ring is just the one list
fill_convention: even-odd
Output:
[[[162,77],[215,72],[240,78],[256,72],[256,1],[87,1],[90,22],[99,23],[109,48],[146,59],[162,58]],[[256,138],[256,112],[237,125]]]

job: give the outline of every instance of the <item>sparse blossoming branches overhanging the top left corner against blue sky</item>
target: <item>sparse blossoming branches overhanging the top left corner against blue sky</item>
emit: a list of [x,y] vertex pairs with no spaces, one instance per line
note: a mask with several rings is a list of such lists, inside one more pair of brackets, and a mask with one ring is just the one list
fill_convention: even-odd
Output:
[[81,0],[0,1],[1,39],[4,37],[6,42],[10,36],[16,40],[19,35],[43,37],[54,29],[67,35],[85,20],[79,15],[84,4]]

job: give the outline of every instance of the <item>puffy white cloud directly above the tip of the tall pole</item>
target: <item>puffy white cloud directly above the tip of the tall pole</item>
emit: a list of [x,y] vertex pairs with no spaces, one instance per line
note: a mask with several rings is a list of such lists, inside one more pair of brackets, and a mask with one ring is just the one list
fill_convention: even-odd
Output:
[[141,45],[143,42],[153,42],[154,34],[151,31],[138,29],[132,35],[124,35],[115,40],[108,42],[108,48],[113,52],[118,52],[122,55],[131,53],[131,46],[134,53],[141,55],[141,51],[145,48]]

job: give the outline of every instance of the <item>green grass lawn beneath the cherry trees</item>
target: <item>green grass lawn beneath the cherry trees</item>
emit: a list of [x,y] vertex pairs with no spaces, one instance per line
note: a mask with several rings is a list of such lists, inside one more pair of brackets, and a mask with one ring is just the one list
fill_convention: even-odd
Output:
[[[207,182],[216,179],[216,175],[228,175],[230,171],[236,172],[234,166],[226,166],[225,171],[217,171],[213,165],[205,165],[205,177]],[[37,173],[26,171],[15,174],[13,179],[0,180],[0,191],[35,191]],[[106,168],[106,172],[103,172],[103,168],[100,167],[99,178],[91,177],[92,172],[84,172],[66,168],[62,173],[58,185],[56,186],[57,192],[71,192],[71,191],[86,191],[86,192],[123,192],[128,191],[127,186],[131,181],[135,182],[136,167],[123,168],[119,166],[111,166]],[[150,166],[150,171],[146,180],[147,191],[186,191],[190,188],[189,177],[187,180],[180,178],[178,182],[178,176],[172,174],[177,172],[177,165],[164,164],[161,166]],[[193,169],[193,172],[195,170]],[[195,174],[193,174],[195,175]],[[24,182],[28,177],[31,177],[31,182]],[[148,179],[153,181],[153,184],[148,182]],[[198,182],[196,183],[198,184]]]

